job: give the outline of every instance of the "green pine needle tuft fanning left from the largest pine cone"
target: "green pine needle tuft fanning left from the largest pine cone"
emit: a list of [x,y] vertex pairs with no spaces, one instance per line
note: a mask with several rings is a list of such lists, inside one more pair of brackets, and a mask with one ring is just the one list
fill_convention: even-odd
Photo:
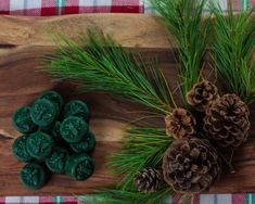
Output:
[[162,157],[173,142],[164,128],[128,129],[124,138],[124,149],[116,153],[109,166],[112,171],[122,177],[118,187],[127,190],[133,184],[133,177],[145,167],[161,167]]

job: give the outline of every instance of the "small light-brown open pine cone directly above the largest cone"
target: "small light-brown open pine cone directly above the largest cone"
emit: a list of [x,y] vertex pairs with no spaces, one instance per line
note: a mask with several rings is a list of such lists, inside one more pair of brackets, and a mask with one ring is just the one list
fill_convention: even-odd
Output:
[[195,118],[184,109],[175,109],[165,117],[166,135],[176,139],[194,136],[196,132]]

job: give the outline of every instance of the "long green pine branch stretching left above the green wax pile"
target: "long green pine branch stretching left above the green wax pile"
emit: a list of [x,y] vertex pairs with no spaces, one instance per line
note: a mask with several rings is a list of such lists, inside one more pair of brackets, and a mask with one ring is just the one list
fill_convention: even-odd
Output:
[[84,90],[110,91],[166,114],[175,104],[163,73],[132,55],[109,36],[88,31],[74,42],[62,36],[51,63],[42,71],[59,79],[69,79]]

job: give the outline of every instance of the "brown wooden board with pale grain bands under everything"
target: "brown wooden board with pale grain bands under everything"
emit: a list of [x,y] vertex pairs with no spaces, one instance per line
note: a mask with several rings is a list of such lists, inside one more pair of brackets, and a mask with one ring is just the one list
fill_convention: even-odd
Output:
[[[128,48],[140,47],[146,58],[157,56],[173,89],[177,86],[176,62],[171,54],[167,33],[151,15],[87,14],[56,17],[0,16],[0,195],[26,194],[82,194],[113,184],[116,178],[107,174],[104,163],[107,156],[122,146],[128,120],[135,118],[130,111],[141,106],[124,102],[102,92],[75,93],[75,86],[67,81],[52,81],[44,73],[36,72],[38,56],[54,51],[50,33],[64,31],[71,38],[86,33],[88,27],[101,28]],[[31,103],[48,89],[60,91],[65,100],[82,99],[92,112],[91,129],[97,135],[94,175],[87,181],[74,181],[67,176],[52,176],[49,183],[28,191],[20,182],[18,174],[24,165],[12,155],[13,140],[18,133],[12,126],[13,112]],[[125,119],[124,119],[125,118]],[[163,122],[158,122],[163,124]],[[255,124],[255,114],[252,114]],[[255,191],[255,128],[234,155],[235,174],[226,173],[208,193],[233,193]]]

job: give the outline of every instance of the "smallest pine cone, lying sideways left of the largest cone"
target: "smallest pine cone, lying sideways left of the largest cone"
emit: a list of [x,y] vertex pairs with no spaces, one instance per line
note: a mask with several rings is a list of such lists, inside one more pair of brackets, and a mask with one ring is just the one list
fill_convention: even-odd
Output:
[[138,191],[144,193],[156,192],[163,183],[162,174],[154,168],[144,168],[135,178]]

